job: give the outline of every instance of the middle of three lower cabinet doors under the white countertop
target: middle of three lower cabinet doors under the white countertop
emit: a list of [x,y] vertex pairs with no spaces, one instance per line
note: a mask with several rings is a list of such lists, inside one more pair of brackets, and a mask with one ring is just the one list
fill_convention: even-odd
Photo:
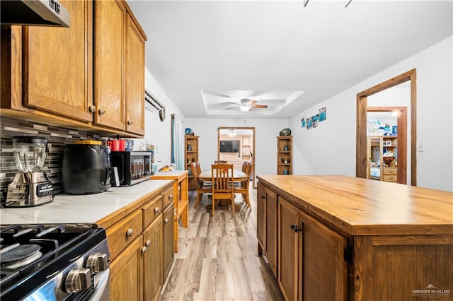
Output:
[[144,230],[143,235],[144,246],[147,247],[147,252],[143,256],[143,297],[144,300],[155,300],[164,285],[162,281],[162,216],[153,220]]

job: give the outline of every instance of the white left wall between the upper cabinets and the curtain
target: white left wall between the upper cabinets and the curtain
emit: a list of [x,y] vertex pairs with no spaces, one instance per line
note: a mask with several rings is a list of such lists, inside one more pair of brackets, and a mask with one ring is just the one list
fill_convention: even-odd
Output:
[[154,160],[162,163],[171,162],[171,114],[176,114],[182,120],[185,116],[178,107],[167,97],[164,89],[154,76],[146,69],[145,87],[153,93],[159,102],[165,106],[166,119],[161,122],[159,112],[145,110],[145,135],[143,139],[134,140],[134,151],[139,151],[144,143],[154,144]]

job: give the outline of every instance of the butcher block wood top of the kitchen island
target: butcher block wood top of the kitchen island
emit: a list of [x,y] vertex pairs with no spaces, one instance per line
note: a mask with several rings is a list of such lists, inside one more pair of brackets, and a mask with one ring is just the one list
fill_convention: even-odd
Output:
[[341,175],[258,181],[348,235],[453,233],[453,193]]

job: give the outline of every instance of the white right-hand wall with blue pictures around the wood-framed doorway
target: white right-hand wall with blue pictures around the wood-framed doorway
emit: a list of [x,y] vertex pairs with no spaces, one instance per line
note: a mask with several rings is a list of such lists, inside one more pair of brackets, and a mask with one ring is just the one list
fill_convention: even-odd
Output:
[[[417,69],[417,153],[419,187],[453,191],[452,37],[352,86],[289,120],[294,140],[294,174],[355,176],[356,95],[378,83]],[[300,126],[327,107],[316,129]]]

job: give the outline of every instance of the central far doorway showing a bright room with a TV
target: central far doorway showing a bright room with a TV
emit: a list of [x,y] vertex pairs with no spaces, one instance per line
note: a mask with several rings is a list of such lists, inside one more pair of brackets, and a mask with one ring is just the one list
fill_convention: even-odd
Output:
[[[241,169],[244,161],[255,163],[255,128],[219,126],[217,128],[217,160],[226,160],[234,168]],[[255,164],[252,168],[253,189]]]

